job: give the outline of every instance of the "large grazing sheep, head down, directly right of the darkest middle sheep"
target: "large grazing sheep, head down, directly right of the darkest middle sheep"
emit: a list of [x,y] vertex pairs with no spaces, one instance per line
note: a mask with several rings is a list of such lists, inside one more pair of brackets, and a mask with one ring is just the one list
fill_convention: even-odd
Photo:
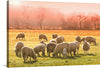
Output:
[[59,53],[59,57],[61,57],[61,54],[62,54],[64,48],[66,48],[68,56],[69,56],[70,48],[69,48],[68,43],[59,43],[59,44],[57,44],[54,51],[53,51],[53,53],[52,53],[52,56],[53,57],[58,56],[58,53]]

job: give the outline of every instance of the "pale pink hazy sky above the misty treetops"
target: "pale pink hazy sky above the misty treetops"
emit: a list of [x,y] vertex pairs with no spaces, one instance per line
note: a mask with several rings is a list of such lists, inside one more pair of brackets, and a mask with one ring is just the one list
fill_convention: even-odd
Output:
[[71,12],[81,12],[81,13],[98,13],[100,14],[100,4],[96,3],[67,3],[67,2],[39,2],[39,1],[11,1],[10,4],[13,4],[15,7],[21,5],[31,6],[34,8],[37,7],[46,7],[46,8],[59,8],[63,13]]

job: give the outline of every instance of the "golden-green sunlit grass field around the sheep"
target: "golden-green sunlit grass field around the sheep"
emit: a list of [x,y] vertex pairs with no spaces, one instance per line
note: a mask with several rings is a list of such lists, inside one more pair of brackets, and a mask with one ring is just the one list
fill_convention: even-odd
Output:
[[[25,33],[25,40],[16,39],[18,33]],[[79,54],[77,56],[69,56],[66,59],[53,58],[51,57],[37,57],[37,62],[24,63],[23,58],[15,55],[15,44],[18,41],[22,41],[25,46],[34,48],[35,45],[39,44],[39,34],[46,34],[48,40],[52,39],[52,34],[58,34],[59,36],[65,37],[65,42],[75,41],[76,36],[93,36],[96,38],[97,45],[91,45],[89,54],[84,56],[82,50],[82,43],[80,45]],[[97,30],[9,30],[9,67],[34,67],[34,66],[67,66],[67,65],[94,65],[100,64],[100,31]],[[48,42],[46,42],[48,43]],[[47,53],[46,53],[47,55]],[[33,60],[33,59],[32,59]]]

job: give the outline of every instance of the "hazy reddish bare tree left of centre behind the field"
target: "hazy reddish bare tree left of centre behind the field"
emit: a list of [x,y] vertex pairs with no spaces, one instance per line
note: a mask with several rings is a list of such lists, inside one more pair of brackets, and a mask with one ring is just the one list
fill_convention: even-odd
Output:
[[45,19],[45,8],[39,8],[38,25],[41,30],[43,29],[44,19]]

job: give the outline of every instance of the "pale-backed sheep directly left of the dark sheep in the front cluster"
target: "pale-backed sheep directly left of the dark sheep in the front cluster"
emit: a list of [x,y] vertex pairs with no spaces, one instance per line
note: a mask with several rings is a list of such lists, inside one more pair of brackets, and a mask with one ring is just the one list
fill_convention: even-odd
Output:
[[42,52],[42,56],[45,56],[45,48],[46,48],[46,43],[41,41],[40,44],[34,47],[34,51],[36,54],[38,54],[38,56],[40,56],[39,52]]

